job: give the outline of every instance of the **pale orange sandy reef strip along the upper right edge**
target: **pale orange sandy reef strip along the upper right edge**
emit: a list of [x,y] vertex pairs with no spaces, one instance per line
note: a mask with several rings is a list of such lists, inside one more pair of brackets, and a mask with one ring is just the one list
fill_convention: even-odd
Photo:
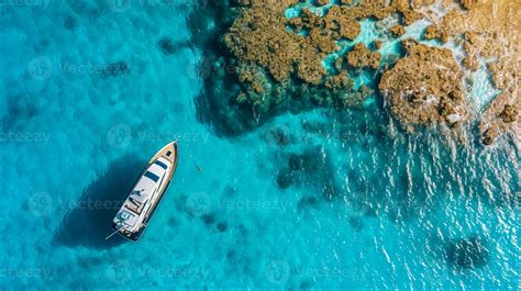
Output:
[[[450,2],[450,1],[445,1]],[[441,38],[446,43],[463,35],[463,47],[468,57],[463,65],[472,70],[479,66],[479,58],[488,59],[487,67],[492,74],[494,85],[503,93],[494,100],[479,125],[485,144],[505,133],[512,133],[519,141],[519,122],[505,124],[500,115],[505,104],[520,107],[518,98],[519,29],[512,20],[518,19],[521,2],[510,0],[458,0],[462,9],[453,9],[442,19],[432,19],[424,37]]]

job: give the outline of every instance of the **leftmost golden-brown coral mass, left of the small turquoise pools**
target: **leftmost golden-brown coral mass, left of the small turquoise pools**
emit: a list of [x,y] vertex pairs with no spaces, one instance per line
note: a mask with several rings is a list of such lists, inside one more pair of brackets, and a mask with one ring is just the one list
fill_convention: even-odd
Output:
[[224,43],[241,65],[265,68],[277,81],[288,79],[297,65],[299,78],[319,83],[325,74],[321,64],[325,55],[321,52],[332,49],[332,44],[321,42],[320,33],[311,33],[311,41],[287,32],[282,2],[244,9],[224,36]]

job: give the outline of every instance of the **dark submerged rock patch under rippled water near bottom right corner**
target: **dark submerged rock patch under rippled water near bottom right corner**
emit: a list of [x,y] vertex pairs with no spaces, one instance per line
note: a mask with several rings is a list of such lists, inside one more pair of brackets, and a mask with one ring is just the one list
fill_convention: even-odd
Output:
[[452,242],[447,246],[447,261],[455,268],[474,269],[487,265],[489,250],[477,236]]

